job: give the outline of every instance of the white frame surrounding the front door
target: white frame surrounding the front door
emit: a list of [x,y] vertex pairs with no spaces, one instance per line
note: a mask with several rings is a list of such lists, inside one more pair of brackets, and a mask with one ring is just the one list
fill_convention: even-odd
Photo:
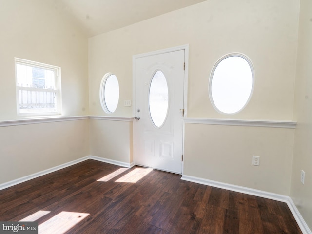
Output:
[[[158,55],[158,54],[164,54],[168,52],[174,52],[178,50],[184,50],[184,61],[185,61],[185,70],[184,70],[184,118],[187,117],[187,90],[188,90],[188,74],[189,74],[189,45],[180,45],[176,47],[171,47],[163,50],[157,50],[157,51],[152,51],[152,52],[147,52],[143,54],[138,54],[132,56],[132,77],[133,77],[133,82],[132,82],[132,116],[136,117],[137,111],[136,111],[136,101],[137,101],[137,90],[136,90],[136,81],[137,81],[137,73],[136,73],[136,59],[142,58],[142,57],[148,57],[148,56],[153,56],[153,55]],[[133,121],[133,162],[136,164],[136,119]],[[182,136],[182,154],[184,155],[184,131],[185,131],[185,123],[183,120],[183,136]],[[182,175],[183,175],[183,169],[184,169],[184,159],[182,161]]]

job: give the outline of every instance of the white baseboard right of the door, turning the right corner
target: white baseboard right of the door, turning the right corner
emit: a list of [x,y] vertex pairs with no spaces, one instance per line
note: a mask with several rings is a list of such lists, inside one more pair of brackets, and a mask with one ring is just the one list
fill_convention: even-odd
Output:
[[293,203],[292,198],[289,196],[285,195],[279,195],[279,194],[274,194],[262,190],[256,190],[256,189],[251,189],[247,187],[242,187],[242,186],[237,186],[233,184],[227,184],[227,183],[222,183],[222,182],[217,182],[214,180],[209,180],[209,179],[203,179],[195,176],[187,176],[187,175],[182,175],[181,177],[182,180],[198,183],[198,184],[204,184],[216,188],[221,188],[221,189],[226,189],[234,192],[239,192],[243,194],[249,194],[249,195],[254,195],[254,196],[259,196],[263,198],[268,198],[276,201],[282,201],[285,202],[290,211],[292,212],[293,217],[298,223],[298,226],[300,227],[301,231],[303,234],[312,234],[311,230],[309,229],[307,223],[301,216],[300,212],[298,211],[296,205]]

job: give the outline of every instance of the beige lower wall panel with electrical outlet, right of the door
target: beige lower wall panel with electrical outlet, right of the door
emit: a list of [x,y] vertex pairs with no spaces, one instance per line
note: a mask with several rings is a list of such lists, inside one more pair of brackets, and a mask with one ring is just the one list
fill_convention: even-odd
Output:
[[[185,125],[184,174],[289,195],[294,129]],[[260,156],[260,166],[252,156]]]

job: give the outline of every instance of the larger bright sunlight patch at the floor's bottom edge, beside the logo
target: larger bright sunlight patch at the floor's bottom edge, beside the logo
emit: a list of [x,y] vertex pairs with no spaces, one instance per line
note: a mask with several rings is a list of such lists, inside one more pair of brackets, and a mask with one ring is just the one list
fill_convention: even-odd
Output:
[[64,234],[87,217],[88,213],[62,211],[39,225],[40,234]]

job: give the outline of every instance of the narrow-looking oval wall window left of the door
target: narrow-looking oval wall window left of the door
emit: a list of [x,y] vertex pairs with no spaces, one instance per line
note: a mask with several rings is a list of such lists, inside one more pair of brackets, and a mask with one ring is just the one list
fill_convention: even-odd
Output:
[[119,84],[117,77],[112,73],[103,76],[100,85],[100,102],[106,113],[115,112],[119,101]]

